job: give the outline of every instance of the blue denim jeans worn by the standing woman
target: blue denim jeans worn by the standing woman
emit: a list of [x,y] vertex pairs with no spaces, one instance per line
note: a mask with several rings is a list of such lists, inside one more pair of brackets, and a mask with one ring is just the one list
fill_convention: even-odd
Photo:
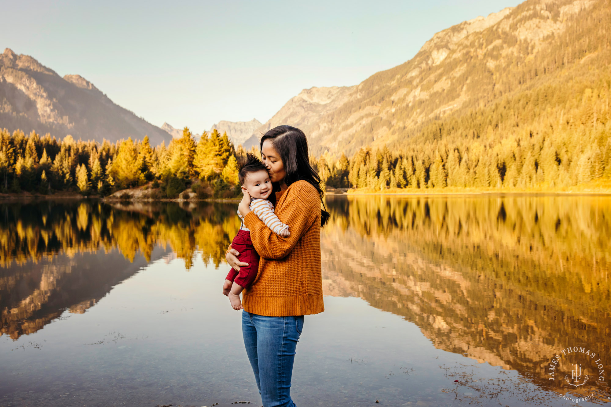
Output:
[[291,400],[291,376],[303,326],[303,315],[264,317],[242,312],[244,345],[263,407],[295,407]]

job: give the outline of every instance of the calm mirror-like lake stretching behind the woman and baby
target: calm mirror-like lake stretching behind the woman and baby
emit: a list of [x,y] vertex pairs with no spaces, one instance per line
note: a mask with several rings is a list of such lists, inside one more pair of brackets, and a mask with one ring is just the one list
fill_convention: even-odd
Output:
[[[296,405],[611,400],[611,197],[326,205]],[[0,204],[0,406],[260,406],[221,294],[236,207]]]

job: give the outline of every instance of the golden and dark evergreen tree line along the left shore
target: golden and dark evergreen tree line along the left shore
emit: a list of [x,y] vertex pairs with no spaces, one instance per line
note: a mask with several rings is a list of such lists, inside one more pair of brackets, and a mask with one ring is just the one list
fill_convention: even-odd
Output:
[[235,195],[237,155],[227,134],[214,129],[196,141],[185,127],[180,139],[154,148],[142,140],[110,143],[57,140],[32,131],[0,131],[0,192],[48,194],[78,191],[105,196],[140,185],[160,188],[159,198],[175,198],[191,186],[201,197]]

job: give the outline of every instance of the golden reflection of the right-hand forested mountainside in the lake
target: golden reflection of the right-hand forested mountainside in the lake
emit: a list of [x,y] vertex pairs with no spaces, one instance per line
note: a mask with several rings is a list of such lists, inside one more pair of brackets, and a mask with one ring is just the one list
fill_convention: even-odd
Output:
[[546,364],[569,344],[611,355],[611,198],[367,197],[327,207],[327,294],[364,298],[438,348],[544,386]]

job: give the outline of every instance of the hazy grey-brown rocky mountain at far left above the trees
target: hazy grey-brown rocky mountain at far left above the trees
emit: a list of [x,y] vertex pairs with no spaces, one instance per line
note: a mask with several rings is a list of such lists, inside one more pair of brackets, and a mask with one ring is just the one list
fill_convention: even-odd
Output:
[[145,135],[152,145],[171,140],[167,132],[113,103],[84,77],[62,78],[9,48],[0,55],[0,127],[98,142]]

